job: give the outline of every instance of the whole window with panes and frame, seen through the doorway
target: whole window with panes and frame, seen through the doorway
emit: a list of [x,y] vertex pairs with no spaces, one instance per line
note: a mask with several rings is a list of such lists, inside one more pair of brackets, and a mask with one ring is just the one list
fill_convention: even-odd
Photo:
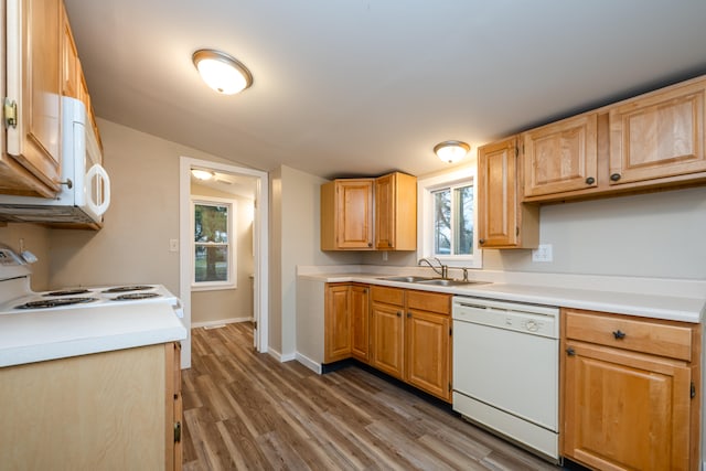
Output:
[[232,200],[192,199],[194,290],[236,288],[234,221],[236,205]]

